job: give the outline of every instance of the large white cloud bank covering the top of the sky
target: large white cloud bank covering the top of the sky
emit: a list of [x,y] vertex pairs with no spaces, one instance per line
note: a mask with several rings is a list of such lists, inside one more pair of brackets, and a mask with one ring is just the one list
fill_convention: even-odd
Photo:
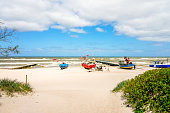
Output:
[[19,31],[107,23],[139,40],[170,42],[169,6],[170,0],[1,0],[0,19]]

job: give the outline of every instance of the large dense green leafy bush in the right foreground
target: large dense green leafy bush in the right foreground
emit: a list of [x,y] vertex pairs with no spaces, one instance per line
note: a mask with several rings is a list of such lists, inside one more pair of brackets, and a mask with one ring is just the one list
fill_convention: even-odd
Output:
[[169,113],[170,68],[146,71],[128,80],[122,91],[125,104],[135,113]]

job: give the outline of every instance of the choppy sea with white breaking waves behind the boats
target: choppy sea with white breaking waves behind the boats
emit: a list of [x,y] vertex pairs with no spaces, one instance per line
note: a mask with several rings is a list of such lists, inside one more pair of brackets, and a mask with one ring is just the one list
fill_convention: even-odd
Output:
[[[53,60],[56,58],[57,60]],[[88,57],[88,59],[91,58],[92,57]],[[95,59],[109,61],[113,63],[118,63],[120,60],[124,60],[123,56],[95,56]],[[135,65],[148,66],[149,64],[156,60],[167,61],[167,57],[130,57],[130,60]],[[38,64],[41,65],[42,67],[55,67],[59,66],[59,64],[63,62],[68,63],[69,65],[81,65],[82,59],[80,56],[0,57],[0,68],[15,68],[32,64]]]

